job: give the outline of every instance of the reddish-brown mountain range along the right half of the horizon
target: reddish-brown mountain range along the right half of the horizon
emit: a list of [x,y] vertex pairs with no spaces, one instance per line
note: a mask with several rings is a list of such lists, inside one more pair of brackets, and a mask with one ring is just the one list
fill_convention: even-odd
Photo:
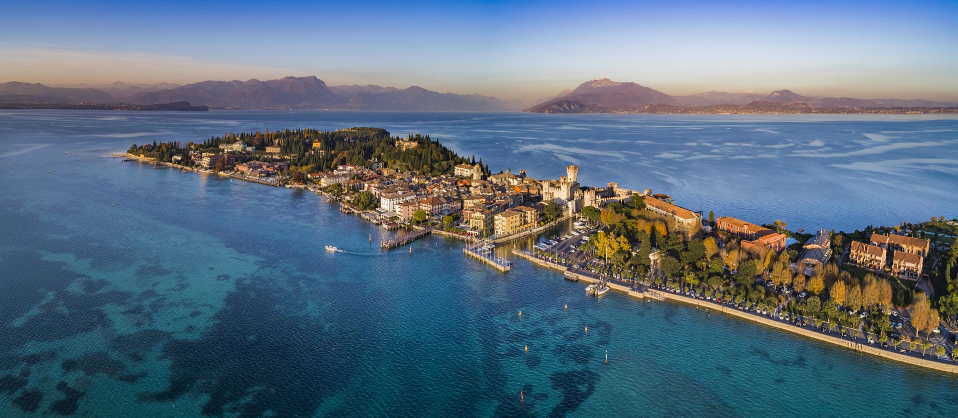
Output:
[[[813,98],[802,96],[790,90],[776,90],[768,95],[753,91],[746,92],[706,92],[688,96],[670,96],[658,90],[634,82],[612,81],[608,78],[596,78],[583,82],[574,90],[564,90],[558,95],[544,99],[525,109],[533,113],[645,113],[653,109],[650,106],[666,105],[673,108],[696,106],[738,105],[756,103],[749,109],[799,108],[788,105],[808,105],[820,109],[873,109],[885,107],[954,107],[958,103],[932,100],[903,99],[854,99],[854,98]],[[780,106],[774,106],[780,105]],[[729,107],[720,109],[729,110]],[[718,110],[718,109],[717,109]],[[844,112],[844,110],[842,110]]]

